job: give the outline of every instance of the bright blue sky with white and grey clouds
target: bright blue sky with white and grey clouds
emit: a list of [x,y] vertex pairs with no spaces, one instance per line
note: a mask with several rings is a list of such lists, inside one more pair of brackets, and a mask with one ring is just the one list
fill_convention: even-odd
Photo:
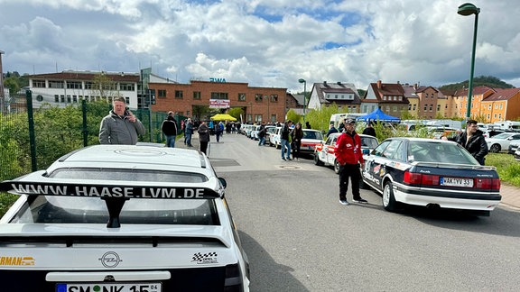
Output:
[[[302,91],[299,78],[441,86],[469,78],[465,0],[0,0],[4,72],[153,73]],[[475,0],[475,76],[520,87],[518,0]],[[310,88],[308,88],[310,90]]]

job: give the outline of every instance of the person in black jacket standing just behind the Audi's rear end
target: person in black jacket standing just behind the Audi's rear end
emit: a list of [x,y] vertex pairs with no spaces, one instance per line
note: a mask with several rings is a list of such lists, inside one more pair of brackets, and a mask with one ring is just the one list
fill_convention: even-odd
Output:
[[487,149],[487,142],[483,135],[484,132],[478,130],[477,123],[475,120],[469,120],[466,122],[466,131],[460,132],[460,134],[453,139],[446,137],[442,137],[441,139],[456,141],[469,151],[480,165],[484,165],[486,161],[485,157],[489,150]]

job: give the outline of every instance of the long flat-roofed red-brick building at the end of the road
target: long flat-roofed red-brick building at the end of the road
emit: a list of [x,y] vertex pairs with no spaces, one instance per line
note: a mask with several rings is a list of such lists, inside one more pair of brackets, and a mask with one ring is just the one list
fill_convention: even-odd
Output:
[[198,116],[197,106],[227,111],[244,110],[243,123],[283,122],[288,110],[287,88],[249,87],[247,83],[191,80],[189,84],[149,83],[155,92],[153,111],[173,111],[180,115]]

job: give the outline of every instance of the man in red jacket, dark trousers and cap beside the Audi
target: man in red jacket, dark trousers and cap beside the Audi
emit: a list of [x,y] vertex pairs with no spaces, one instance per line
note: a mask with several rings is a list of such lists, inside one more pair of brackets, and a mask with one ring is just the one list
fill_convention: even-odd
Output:
[[355,130],[356,120],[349,119],[345,124],[345,131],[339,135],[334,147],[334,155],[339,162],[339,203],[341,205],[348,205],[348,178],[352,181],[354,201],[367,203],[367,200],[359,195],[359,179],[361,179],[359,165],[364,168],[365,160],[361,151],[361,138]]

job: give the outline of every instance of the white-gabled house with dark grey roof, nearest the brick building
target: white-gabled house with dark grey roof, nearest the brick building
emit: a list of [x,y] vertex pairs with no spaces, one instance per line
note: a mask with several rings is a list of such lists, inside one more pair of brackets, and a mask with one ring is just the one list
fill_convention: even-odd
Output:
[[322,106],[336,104],[340,112],[360,113],[361,99],[356,86],[351,83],[314,83],[309,97],[309,109],[320,110]]

